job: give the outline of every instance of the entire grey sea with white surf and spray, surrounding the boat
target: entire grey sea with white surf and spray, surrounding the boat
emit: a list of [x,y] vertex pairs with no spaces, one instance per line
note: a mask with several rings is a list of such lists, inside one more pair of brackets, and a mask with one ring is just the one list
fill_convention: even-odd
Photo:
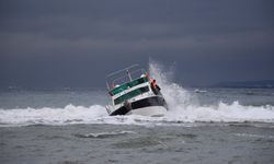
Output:
[[1,90],[0,163],[274,163],[273,89],[184,87],[150,72],[162,117],[109,116],[105,89]]

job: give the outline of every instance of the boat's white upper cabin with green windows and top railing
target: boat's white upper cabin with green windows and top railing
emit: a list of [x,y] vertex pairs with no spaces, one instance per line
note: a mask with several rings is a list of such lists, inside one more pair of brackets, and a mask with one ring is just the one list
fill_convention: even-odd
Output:
[[106,107],[109,114],[128,102],[156,95],[151,89],[148,72],[138,65],[109,74],[106,86],[111,99],[111,105]]

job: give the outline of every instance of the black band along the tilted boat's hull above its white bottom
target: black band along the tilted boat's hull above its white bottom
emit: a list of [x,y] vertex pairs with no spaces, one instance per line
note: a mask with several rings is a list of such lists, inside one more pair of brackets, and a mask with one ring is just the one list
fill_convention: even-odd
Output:
[[168,109],[167,103],[162,96],[152,96],[152,97],[147,97],[144,99],[133,102],[130,104],[130,107],[122,106],[110,115],[111,116],[126,115],[130,110],[142,108],[142,107],[148,107],[148,106],[163,106]]

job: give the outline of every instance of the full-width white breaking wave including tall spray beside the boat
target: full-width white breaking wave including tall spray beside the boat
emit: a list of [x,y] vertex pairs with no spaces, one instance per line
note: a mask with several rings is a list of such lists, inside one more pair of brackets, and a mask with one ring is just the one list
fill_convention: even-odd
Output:
[[195,96],[176,83],[172,71],[163,72],[156,62],[149,65],[150,75],[157,80],[167,99],[169,112],[163,117],[115,116],[110,117],[102,105],[89,107],[67,105],[64,108],[0,109],[0,127],[28,125],[71,124],[125,124],[165,125],[181,122],[274,122],[274,106],[244,106],[238,102],[217,105],[198,105]]

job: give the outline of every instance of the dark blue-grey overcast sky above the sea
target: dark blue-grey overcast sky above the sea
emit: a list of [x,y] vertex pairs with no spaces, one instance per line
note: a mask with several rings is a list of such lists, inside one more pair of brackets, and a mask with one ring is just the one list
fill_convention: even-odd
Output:
[[3,0],[0,86],[105,87],[157,61],[183,86],[274,79],[272,0]]

